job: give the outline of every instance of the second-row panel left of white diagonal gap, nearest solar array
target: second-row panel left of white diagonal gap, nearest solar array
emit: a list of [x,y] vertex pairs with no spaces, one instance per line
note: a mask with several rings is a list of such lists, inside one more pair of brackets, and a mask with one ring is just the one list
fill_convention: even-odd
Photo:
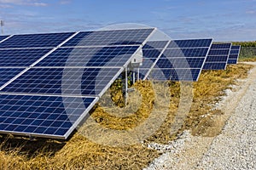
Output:
[[50,50],[51,48],[0,49],[0,66],[29,66]]

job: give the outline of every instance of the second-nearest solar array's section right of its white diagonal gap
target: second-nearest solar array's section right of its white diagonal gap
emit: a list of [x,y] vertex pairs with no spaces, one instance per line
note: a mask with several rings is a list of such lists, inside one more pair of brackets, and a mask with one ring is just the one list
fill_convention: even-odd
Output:
[[143,79],[197,81],[211,44],[212,38],[169,42]]

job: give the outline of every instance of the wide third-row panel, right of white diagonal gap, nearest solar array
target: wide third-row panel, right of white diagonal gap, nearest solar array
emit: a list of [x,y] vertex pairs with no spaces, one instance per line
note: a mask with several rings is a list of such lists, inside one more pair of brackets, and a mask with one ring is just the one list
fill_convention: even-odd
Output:
[[3,88],[7,93],[98,95],[120,68],[32,68]]

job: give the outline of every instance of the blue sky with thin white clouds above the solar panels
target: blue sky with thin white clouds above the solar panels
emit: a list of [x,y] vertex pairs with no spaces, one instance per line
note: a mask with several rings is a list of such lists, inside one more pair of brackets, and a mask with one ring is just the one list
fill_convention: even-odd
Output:
[[256,0],[0,0],[0,20],[5,34],[138,23],[173,39],[256,40]]

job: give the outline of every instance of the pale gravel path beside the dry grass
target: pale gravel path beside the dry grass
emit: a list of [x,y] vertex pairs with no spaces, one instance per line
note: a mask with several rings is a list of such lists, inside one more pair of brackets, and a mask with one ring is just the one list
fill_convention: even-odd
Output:
[[[166,151],[145,170],[256,169],[256,63],[249,64],[255,67],[248,78],[218,104],[227,120],[222,132],[213,138],[186,132],[175,141],[177,150]],[[163,147],[168,146],[155,149]]]

